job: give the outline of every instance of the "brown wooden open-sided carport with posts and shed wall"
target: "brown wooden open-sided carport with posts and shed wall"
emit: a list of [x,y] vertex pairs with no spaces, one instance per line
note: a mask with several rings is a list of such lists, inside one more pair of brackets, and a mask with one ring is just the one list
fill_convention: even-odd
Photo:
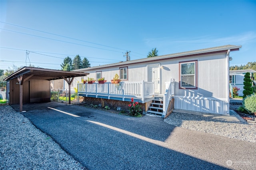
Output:
[[68,83],[70,104],[70,85],[74,78],[87,76],[88,74],[84,72],[23,67],[4,79],[7,81],[6,94],[9,104],[20,103],[20,112],[22,112],[23,102],[50,102],[50,80],[62,78]]

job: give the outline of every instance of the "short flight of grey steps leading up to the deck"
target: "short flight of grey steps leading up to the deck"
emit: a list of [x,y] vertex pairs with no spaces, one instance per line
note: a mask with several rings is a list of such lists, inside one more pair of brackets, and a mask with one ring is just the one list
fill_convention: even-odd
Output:
[[154,114],[154,115],[162,115],[163,114],[163,98],[162,97],[155,97],[151,106],[149,106],[149,110],[147,114]]

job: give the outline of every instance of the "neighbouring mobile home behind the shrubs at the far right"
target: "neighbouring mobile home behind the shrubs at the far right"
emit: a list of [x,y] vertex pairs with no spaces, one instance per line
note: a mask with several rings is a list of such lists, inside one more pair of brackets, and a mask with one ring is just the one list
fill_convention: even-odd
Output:
[[[237,87],[240,90],[238,90],[238,96],[243,96],[243,90],[244,90],[244,75],[246,72],[250,73],[250,77],[252,79],[252,86],[256,85],[255,81],[255,74],[256,71],[252,69],[248,70],[230,70],[229,71],[229,82],[231,83],[232,87]],[[254,83],[254,84],[253,84]]]

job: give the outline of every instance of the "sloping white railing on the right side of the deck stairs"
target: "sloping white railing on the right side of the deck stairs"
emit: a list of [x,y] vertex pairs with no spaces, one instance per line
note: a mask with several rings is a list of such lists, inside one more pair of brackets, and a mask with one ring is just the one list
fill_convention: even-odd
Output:
[[170,103],[170,100],[172,99],[172,96],[174,96],[174,90],[175,90],[175,79],[172,78],[170,82],[166,82],[166,91],[164,93],[164,98],[163,98],[163,115],[165,116],[168,111],[168,105]]

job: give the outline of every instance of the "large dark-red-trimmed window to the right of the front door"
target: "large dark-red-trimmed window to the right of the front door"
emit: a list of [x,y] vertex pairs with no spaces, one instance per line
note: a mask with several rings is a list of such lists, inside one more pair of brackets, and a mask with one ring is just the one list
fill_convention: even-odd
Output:
[[196,75],[197,61],[180,62],[180,88],[197,89]]

